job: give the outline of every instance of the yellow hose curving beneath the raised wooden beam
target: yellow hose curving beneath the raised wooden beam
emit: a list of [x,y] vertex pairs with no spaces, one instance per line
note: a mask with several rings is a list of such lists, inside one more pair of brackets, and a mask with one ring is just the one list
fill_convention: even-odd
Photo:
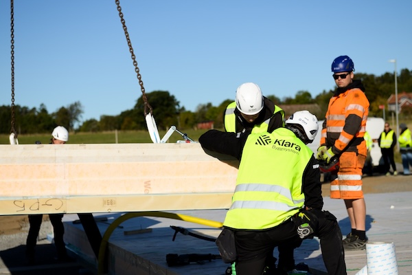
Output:
[[127,221],[128,219],[132,219],[134,217],[141,217],[141,216],[148,216],[148,217],[161,217],[161,218],[168,218],[168,219],[179,219],[181,221],[187,221],[191,223],[199,223],[203,225],[210,226],[212,228],[221,228],[223,223],[220,221],[211,221],[208,219],[202,219],[202,218],[196,218],[196,217],[191,217],[187,216],[185,214],[174,214],[174,213],[168,213],[168,212],[133,212],[133,213],[126,213],[122,215],[121,217],[118,217],[111,223],[111,225],[108,226],[106,232],[104,232],[104,235],[102,237],[102,243],[100,243],[100,249],[99,249],[99,256],[98,256],[98,274],[104,274],[104,256],[106,254],[106,246],[108,243],[108,239],[110,238],[111,234],[113,231],[119,226],[122,222]]

